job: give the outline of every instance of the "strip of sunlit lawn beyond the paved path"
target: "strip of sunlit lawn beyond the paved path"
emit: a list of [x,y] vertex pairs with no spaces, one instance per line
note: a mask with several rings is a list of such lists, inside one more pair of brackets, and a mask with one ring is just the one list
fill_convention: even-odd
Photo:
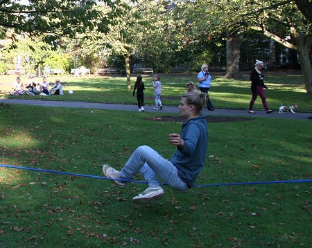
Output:
[[[13,79],[14,77],[2,77],[3,82],[11,82]],[[50,80],[54,82],[55,77],[51,77]],[[22,95],[17,98],[136,104],[136,98],[132,97],[132,90],[130,92],[127,90],[125,77],[61,77],[60,80],[62,84],[64,83],[65,95],[63,96],[52,98]],[[154,104],[151,80],[152,77],[144,77],[145,103],[148,105]],[[197,82],[197,75],[162,75],[163,104],[178,105],[182,92],[187,90],[185,83],[189,80]],[[26,78],[22,79],[22,82],[26,82]],[[134,83],[135,77],[132,77],[132,88]],[[11,86],[8,85],[10,86],[7,84],[6,88],[2,87],[3,90],[10,90]],[[302,75],[279,71],[266,73],[266,85],[269,88],[266,90],[266,97],[270,108],[277,110],[281,105],[297,104],[300,106],[300,111],[312,111],[312,97],[306,95]],[[69,89],[74,91],[73,95],[67,93]],[[225,79],[216,74],[212,80],[210,97],[217,108],[248,108],[251,99],[249,73],[245,73],[240,80]],[[257,99],[254,108],[263,109],[260,98]]]

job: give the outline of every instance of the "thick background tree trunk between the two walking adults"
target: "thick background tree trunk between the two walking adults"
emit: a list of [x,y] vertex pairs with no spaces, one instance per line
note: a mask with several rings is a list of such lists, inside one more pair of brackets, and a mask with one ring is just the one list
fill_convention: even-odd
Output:
[[239,78],[239,59],[241,57],[241,43],[243,35],[234,35],[227,38],[227,71],[225,77]]

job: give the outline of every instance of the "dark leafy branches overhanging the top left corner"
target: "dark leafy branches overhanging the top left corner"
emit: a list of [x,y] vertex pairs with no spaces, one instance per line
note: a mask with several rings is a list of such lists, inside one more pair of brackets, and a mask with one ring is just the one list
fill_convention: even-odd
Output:
[[[106,15],[98,10],[99,5],[107,10]],[[121,6],[119,1],[3,1],[0,9],[0,37],[15,40],[18,35],[27,34],[29,37],[42,37],[46,44],[57,48],[60,37],[73,38],[77,33],[87,37],[87,32],[94,28],[99,32],[107,32],[107,25],[120,15]],[[8,34],[8,30],[13,30],[13,33]]]

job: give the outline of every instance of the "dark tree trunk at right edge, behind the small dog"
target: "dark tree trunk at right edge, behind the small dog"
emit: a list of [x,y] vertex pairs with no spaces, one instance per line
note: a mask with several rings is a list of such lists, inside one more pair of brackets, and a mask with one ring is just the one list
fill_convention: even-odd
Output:
[[312,36],[306,37],[303,32],[297,32],[294,35],[297,44],[297,52],[299,53],[299,61],[304,75],[304,86],[306,93],[312,95],[312,66],[309,54],[309,48],[312,45]]

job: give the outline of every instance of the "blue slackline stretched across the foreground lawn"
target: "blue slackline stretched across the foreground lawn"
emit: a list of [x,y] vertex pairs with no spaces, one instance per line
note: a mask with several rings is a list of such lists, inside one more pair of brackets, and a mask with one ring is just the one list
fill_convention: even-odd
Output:
[[[107,179],[107,180],[118,180],[123,182],[137,182],[140,184],[147,184],[147,182],[142,181],[135,181],[135,180],[121,180],[121,179],[114,179],[114,178],[106,178],[99,175],[87,175],[87,174],[78,174],[78,173],[70,173],[70,172],[63,172],[63,171],[51,171],[46,169],[35,169],[30,167],[22,167],[22,166],[13,166],[8,164],[0,164],[1,167],[13,168],[13,169],[23,169],[28,171],[41,171],[41,172],[49,172],[49,173],[58,173],[64,175],[75,175],[80,177],[87,177],[87,178],[100,178],[100,179]],[[302,180],[280,180],[280,181],[263,181],[263,182],[232,182],[232,183],[219,183],[219,184],[202,184],[202,185],[194,185],[194,187],[211,187],[211,186],[234,186],[234,185],[246,185],[246,184],[281,184],[281,183],[302,183],[302,182],[312,182],[312,179],[302,179]]]

